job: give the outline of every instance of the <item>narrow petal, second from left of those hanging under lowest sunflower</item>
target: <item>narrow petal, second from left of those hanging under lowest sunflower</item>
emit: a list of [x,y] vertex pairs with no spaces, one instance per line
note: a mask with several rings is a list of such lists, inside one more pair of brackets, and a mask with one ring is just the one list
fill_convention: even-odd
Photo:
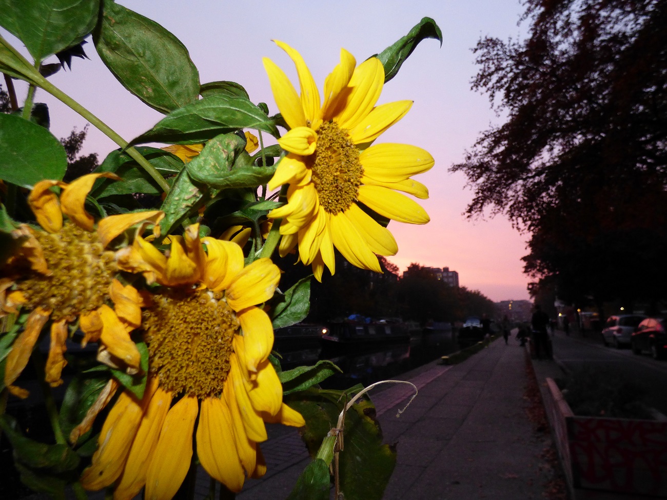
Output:
[[169,405],[171,394],[157,387],[139,424],[120,482],[113,491],[113,500],[131,500],[145,485],[148,464],[157,447]]

